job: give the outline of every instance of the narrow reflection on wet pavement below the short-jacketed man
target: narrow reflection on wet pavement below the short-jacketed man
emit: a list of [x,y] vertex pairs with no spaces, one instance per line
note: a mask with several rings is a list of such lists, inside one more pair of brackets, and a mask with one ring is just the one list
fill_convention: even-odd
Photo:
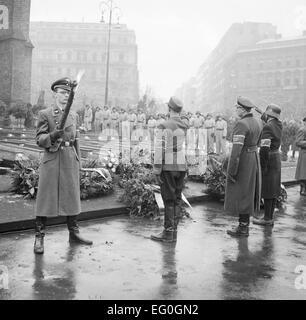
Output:
[[176,242],[166,243],[161,246],[162,253],[162,281],[157,299],[176,299],[177,295],[177,270],[175,259]]

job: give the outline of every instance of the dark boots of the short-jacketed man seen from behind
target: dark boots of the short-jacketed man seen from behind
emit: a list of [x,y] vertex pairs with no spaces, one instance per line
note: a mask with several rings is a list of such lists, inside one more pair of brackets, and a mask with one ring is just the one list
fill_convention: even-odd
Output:
[[157,234],[151,235],[151,239],[155,241],[162,242],[175,242],[176,241],[176,226],[175,226],[175,211],[174,205],[165,205],[165,222],[164,222],[164,230]]

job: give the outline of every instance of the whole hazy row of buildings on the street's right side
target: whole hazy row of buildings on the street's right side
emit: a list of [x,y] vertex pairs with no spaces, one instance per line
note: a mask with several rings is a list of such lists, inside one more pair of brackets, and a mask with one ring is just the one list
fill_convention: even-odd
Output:
[[232,112],[238,95],[258,106],[279,104],[284,115],[306,107],[306,34],[283,39],[269,23],[234,23],[195,76],[203,112]]

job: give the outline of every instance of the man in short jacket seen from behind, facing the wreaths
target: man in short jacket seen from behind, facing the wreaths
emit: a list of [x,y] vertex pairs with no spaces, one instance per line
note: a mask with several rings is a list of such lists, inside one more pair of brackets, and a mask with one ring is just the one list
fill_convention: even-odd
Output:
[[180,117],[183,104],[179,99],[171,97],[168,109],[170,118],[157,127],[154,148],[154,173],[161,186],[161,196],[165,205],[164,230],[152,235],[151,239],[175,242],[184,177],[187,171],[183,145],[188,126]]

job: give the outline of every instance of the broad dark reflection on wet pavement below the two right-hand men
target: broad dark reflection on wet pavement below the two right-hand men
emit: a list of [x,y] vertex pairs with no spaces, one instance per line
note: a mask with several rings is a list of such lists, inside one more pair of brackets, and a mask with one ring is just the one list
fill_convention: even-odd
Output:
[[263,299],[260,280],[270,279],[275,271],[271,229],[264,229],[264,239],[257,251],[251,252],[248,239],[240,238],[236,259],[225,257],[222,272],[222,299]]

